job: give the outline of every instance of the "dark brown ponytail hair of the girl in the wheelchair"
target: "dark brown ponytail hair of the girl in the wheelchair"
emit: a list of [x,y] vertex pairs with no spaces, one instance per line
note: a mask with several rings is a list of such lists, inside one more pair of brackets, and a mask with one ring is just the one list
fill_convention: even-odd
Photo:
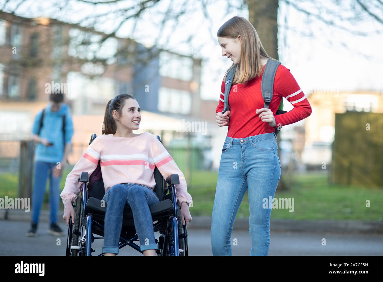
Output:
[[120,115],[122,108],[125,105],[126,99],[134,99],[133,96],[129,94],[120,94],[111,99],[108,104],[106,104],[105,115],[104,115],[104,124],[102,134],[115,134],[117,127],[115,119],[113,118],[113,110],[116,110]]

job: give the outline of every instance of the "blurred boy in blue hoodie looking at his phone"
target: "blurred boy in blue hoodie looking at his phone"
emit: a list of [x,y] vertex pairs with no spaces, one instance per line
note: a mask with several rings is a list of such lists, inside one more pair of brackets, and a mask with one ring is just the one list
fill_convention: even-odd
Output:
[[59,211],[62,171],[67,163],[67,156],[72,143],[73,122],[69,107],[65,104],[64,94],[51,93],[50,102],[35,117],[32,128],[32,139],[37,142],[34,150],[34,185],[32,194],[31,229],[26,236],[36,237],[39,214],[49,177],[49,233],[63,236],[64,232],[57,225]]

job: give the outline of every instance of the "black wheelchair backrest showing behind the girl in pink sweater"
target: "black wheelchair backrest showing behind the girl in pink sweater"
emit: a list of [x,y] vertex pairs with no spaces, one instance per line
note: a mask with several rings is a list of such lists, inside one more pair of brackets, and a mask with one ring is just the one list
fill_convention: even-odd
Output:
[[[92,143],[92,141],[96,137],[97,137],[96,134],[92,134],[89,144]],[[158,140],[161,141],[161,138],[158,135],[156,135],[156,137]],[[157,195],[158,199],[160,201],[163,201],[165,181],[164,181],[164,177],[162,176],[162,174],[160,173],[157,167],[154,168],[154,180],[155,180],[155,187],[153,191]],[[102,198],[105,195],[105,186],[102,180],[100,161],[98,161],[98,165],[96,169],[89,176],[89,182],[87,187],[88,187],[88,197],[93,197],[98,200],[102,200]]]

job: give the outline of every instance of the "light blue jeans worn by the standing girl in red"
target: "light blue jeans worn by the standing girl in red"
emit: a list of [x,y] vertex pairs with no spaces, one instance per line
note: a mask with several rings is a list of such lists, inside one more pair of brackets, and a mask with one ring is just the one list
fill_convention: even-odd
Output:
[[263,208],[263,199],[274,198],[280,175],[274,133],[241,139],[226,137],[211,218],[214,256],[232,255],[231,231],[246,190],[249,190],[250,256],[268,255],[271,208]]

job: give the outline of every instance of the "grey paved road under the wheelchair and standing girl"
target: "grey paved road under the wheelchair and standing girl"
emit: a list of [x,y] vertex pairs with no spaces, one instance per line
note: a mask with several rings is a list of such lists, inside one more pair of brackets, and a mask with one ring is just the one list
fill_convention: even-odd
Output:
[[[62,256],[65,255],[67,236],[56,237],[48,233],[48,224],[40,223],[38,237],[26,237],[29,229],[26,221],[0,220],[0,255],[16,256]],[[68,230],[65,223],[60,227]],[[157,232],[156,238],[159,233]],[[61,245],[57,245],[57,239]],[[210,230],[188,229],[189,255],[211,256]],[[232,239],[237,239],[237,246],[232,246],[234,256],[248,256],[250,254],[250,235],[246,230],[233,230]],[[326,239],[326,246],[322,246],[322,238]],[[138,242],[136,242],[138,243]],[[101,252],[103,240],[97,239],[92,244],[98,255]],[[119,251],[119,255],[141,255],[129,246]],[[317,233],[291,233],[270,232],[269,256],[376,256],[383,255],[383,235],[351,235],[351,234],[317,234]]]

